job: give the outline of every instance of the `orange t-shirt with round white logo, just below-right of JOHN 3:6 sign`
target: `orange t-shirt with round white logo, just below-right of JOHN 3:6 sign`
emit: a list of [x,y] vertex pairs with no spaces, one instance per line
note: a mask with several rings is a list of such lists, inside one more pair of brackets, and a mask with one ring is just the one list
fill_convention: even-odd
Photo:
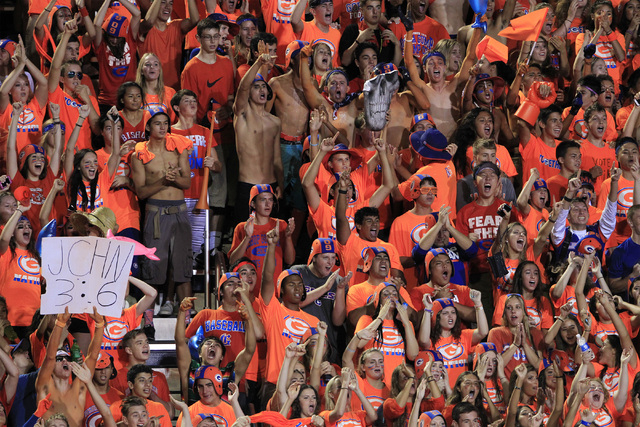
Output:
[[[120,343],[127,332],[140,326],[142,314],[136,315],[137,307],[138,304],[134,304],[129,308],[125,308],[122,310],[122,316],[120,317],[105,316],[104,336],[102,337],[100,350],[113,357],[113,365],[116,369],[123,368],[129,360],[129,356],[127,356]],[[87,322],[87,327],[93,336],[95,331],[93,319],[86,314],[79,317],[84,318],[85,322]]]

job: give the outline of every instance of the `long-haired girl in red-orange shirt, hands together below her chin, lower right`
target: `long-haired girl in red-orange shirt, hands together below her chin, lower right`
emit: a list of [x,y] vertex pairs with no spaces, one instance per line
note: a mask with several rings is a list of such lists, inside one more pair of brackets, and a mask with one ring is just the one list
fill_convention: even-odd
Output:
[[529,363],[538,366],[540,363],[542,333],[530,324],[522,295],[507,295],[502,326],[492,328],[487,338],[501,353],[507,377],[518,365]]

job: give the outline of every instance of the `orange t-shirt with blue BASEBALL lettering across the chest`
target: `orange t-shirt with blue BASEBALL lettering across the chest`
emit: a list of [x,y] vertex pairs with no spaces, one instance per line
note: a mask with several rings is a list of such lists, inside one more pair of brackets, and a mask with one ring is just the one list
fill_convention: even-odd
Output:
[[239,312],[225,311],[222,308],[202,310],[191,319],[185,332],[187,338],[194,336],[200,326],[205,337],[218,337],[226,347],[220,366],[236,360],[236,356],[244,349],[244,321]]

